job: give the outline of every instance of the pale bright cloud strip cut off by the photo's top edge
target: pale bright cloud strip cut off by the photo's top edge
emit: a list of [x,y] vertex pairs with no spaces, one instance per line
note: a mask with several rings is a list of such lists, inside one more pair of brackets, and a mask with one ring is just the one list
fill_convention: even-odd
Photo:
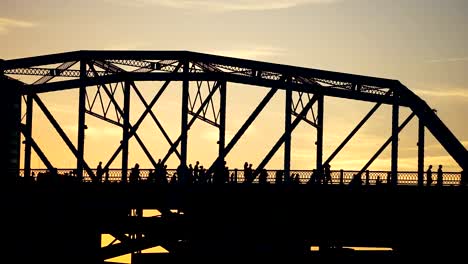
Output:
[[[109,0],[106,0],[109,1]],[[307,4],[329,4],[339,0],[136,0],[117,1],[127,6],[160,5],[178,9],[200,9],[207,11],[263,11],[293,8]],[[116,2],[116,1],[112,1]]]

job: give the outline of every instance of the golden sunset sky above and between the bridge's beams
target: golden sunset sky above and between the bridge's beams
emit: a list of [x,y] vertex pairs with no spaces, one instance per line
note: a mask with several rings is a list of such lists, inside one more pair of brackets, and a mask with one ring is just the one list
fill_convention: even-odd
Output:
[[[398,79],[436,109],[468,146],[468,1],[3,0],[0,7],[2,59],[74,50],[190,50]],[[149,101],[160,85],[143,83],[140,87]],[[180,88],[180,83],[171,85],[155,109],[173,140],[180,131]],[[227,142],[266,92],[265,88],[228,84]],[[41,98],[76,142],[77,91]],[[136,121],[142,106],[133,102],[132,120]],[[324,159],[371,107],[369,103],[325,99]],[[332,162],[332,169],[360,169],[366,163],[390,135],[389,109],[379,110]],[[65,144],[39,110],[35,111],[33,136],[52,163],[75,166]],[[229,154],[228,165],[241,168],[248,160],[255,167],[282,134],[283,113],[284,92],[280,92]],[[400,122],[408,114],[408,109],[402,109]],[[400,136],[401,170],[417,169],[416,121]],[[99,160],[106,162],[110,157],[121,131],[91,116],[86,123],[86,160],[95,167]],[[168,145],[150,119],[139,133],[156,159],[166,153]],[[293,169],[315,167],[315,137],[315,130],[306,124],[294,131]],[[209,166],[217,152],[216,140],[216,129],[197,121],[189,133],[188,162],[200,160]],[[129,166],[139,162],[149,168],[139,146],[134,141],[131,144]],[[371,169],[390,168],[389,150]],[[268,168],[281,168],[282,157],[280,150]],[[174,156],[169,167],[176,164]],[[432,136],[426,141],[427,164],[460,170]],[[43,165],[34,157],[32,166]]]

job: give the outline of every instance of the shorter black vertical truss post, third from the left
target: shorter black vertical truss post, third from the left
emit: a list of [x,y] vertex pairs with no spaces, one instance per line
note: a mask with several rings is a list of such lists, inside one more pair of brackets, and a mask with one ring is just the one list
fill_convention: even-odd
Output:
[[130,139],[130,82],[124,84],[123,134],[122,134],[122,182],[127,182],[128,140]]

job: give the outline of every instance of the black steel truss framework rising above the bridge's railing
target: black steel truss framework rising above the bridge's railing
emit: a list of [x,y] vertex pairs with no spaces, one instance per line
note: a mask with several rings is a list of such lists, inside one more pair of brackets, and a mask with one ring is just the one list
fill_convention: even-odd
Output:
[[[395,184],[398,182],[396,173],[398,170],[398,133],[414,116],[419,118],[419,174],[422,175],[424,169],[424,128],[428,128],[431,131],[462,169],[465,169],[468,164],[465,148],[442,123],[433,110],[422,99],[396,80],[187,51],[77,51],[7,60],[3,61],[1,65],[2,75],[12,77],[41,76],[36,81],[25,83],[19,88],[20,93],[25,97],[26,101],[25,122],[21,124],[21,133],[27,139],[24,153],[26,177],[30,176],[31,148],[36,151],[42,162],[49,169],[53,168],[45,152],[35,143],[33,138],[29,137],[33,127],[33,102],[46,115],[47,119],[76,157],[78,177],[83,177],[83,171],[86,171],[87,175],[91,178],[94,177],[90,166],[83,159],[86,114],[121,127],[123,131],[121,144],[106,162],[105,168],[108,168],[115,161],[118,154],[122,154],[122,180],[126,181],[128,142],[131,138],[134,138],[138,142],[153,166],[156,166],[156,161],[137,133],[140,124],[146,117],[154,120],[170,144],[170,149],[164,156],[163,162],[167,161],[171,154],[175,154],[180,159],[181,164],[185,165],[187,163],[187,131],[196,119],[207,122],[219,129],[219,155],[216,160],[223,161],[224,157],[235,147],[238,140],[278,90],[284,90],[286,94],[284,134],[265,156],[257,171],[264,168],[271,157],[284,144],[284,171],[286,175],[289,175],[291,133],[300,121],[310,124],[317,131],[316,169],[322,171],[323,165],[333,160],[338,152],[343,149],[382,104],[392,105],[392,134],[384,142],[382,148],[362,168],[361,172],[365,171],[378,155],[391,144],[392,182]],[[51,68],[48,65],[58,66]],[[137,81],[164,81],[164,84],[154,98],[148,102],[137,87]],[[176,139],[173,139],[166,133],[158,117],[153,113],[152,108],[164,93],[169,83],[175,81],[182,82],[182,124],[180,135]],[[226,90],[229,82],[268,87],[270,90],[242,127],[235,133],[232,140],[225,142]],[[196,85],[196,94],[190,94],[190,84]],[[86,89],[92,86],[98,87],[94,94],[87,92]],[[72,139],[60,127],[40,99],[41,93],[66,89],[79,89],[80,91],[77,109],[79,115],[77,126],[78,144],[76,146],[72,144]],[[114,96],[117,89],[122,89],[123,91],[123,102],[118,102]],[[141,101],[146,107],[146,110],[134,124],[131,124],[129,120],[131,109],[130,90],[133,90],[136,94],[137,98],[135,101]],[[293,97],[293,93],[297,93],[297,96]],[[219,96],[219,100],[217,101],[219,105],[215,105],[213,101],[213,97],[215,96]],[[369,113],[326,160],[323,158],[325,96],[375,103],[375,106]],[[108,97],[109,103],[104,104],[103,97]],[[113,109],[110,108],[111,105],[116,110],[114,115],[112,115],[112,111],[109,111],[109,109]],[[412,110],[412,114],[401,123],[399,120],[400,107],[409,107]],[[215,111],[211,111],[211,109]],[[180,149],[178,149],[179,146]],[[216,161],[213,162],[213,165],[215,163]],[[210,169],[212,170],[213,166]]]

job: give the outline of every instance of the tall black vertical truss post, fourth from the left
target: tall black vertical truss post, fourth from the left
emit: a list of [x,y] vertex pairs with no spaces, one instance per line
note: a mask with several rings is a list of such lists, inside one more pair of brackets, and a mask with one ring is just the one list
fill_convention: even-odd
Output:
[[183,66],[184,78],[182,81],[182,112],[181,112],[181,141],[180,141],[180,164],[182,168],[187,165],[187,134],[188,134],[188,97],[189,97],[189,62],[185,61]]

